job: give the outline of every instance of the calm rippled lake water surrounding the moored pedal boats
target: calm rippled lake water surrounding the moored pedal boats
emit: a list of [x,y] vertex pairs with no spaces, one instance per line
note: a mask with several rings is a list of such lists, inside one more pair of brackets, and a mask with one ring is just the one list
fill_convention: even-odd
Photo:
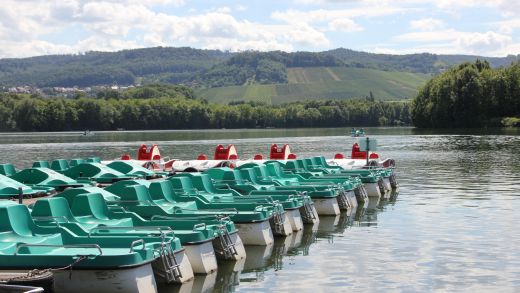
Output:
[[[299,157],[348,154],[349,129],[0,134],[0,162],[135,156],[157,143],[163,156],[212,155],[233,143],[241,158],[289,143]],[[519,292],[520,132],[369,128],[378,153],[397,161],[399,194],[365,209],[321,218],[243,263],[164,292]]]

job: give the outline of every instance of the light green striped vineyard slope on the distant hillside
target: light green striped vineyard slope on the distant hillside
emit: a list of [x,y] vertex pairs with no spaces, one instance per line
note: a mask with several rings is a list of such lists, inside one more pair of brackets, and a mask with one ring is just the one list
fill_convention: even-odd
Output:
[[377,99],[399,100],[412,98],[428,78],[425,74],[364,68],[289,68],[289,84],[228,86],[199,90],[197,94],[217,103],[348,99],[368,96],[370,91]]

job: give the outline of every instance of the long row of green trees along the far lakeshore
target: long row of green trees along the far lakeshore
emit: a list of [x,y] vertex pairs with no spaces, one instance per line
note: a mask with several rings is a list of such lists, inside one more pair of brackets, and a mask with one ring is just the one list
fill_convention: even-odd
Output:
[[212,104],[189,88],[148,86],[99,98],[0,95],[2,131],[144,130],[410,125],[407,102],[371,99],[284,105]]

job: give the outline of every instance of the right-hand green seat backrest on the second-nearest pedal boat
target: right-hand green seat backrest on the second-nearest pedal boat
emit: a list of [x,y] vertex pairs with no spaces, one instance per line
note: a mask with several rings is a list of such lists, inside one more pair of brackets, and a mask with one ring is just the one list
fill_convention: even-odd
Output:
[[84,193],[76,196],[72,204],[75,216],[92,216],[100,220],[108,220],[108,206],[100,193]]

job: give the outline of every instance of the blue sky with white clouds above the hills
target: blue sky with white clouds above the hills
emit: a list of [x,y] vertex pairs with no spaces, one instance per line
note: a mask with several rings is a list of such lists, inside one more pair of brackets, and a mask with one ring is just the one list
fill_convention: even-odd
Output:
[[520,1],[0,1],[0,58],[156,46],[517,55]]

